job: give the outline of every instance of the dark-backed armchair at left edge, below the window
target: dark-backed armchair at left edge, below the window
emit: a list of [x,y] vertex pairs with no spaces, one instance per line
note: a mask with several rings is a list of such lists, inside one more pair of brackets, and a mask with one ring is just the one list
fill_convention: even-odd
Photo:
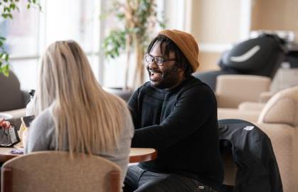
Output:
[[26,104],[30,100],[28,92],[21,90],[16,75],[10,71],[9,77],[0,73],[0,115],[9,117],[9,121],[17,127],[21,124],[20,118],[26,115]]

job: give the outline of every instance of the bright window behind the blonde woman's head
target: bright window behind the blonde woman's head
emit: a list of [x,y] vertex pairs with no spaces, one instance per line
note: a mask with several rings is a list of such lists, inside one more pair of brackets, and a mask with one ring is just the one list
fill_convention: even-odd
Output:
[[[158,0],[159,9],[163,1]],[[40,0],[42,11],[39,11],[38,8],[28,10],[26,1],[20,1],[20,11],[13,13],[13,20],[0,20],[0,34],[6,37],[11,70],[18,76],[21,89],[36,89],[38,62],[45,48],[54,41],[70,39],[77,41],[87,53],[101,85],[122,86],[125,56],[105,60],[100,51],[101,40],[117,25],[113,19],[100,19],[101,10],[107,4],[111,1]]]

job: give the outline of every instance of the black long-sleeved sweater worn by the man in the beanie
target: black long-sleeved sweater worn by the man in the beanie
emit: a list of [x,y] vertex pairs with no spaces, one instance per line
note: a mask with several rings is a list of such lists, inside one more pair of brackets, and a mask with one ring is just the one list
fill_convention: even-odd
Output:
[[204,82],[191,76],[171,90],[146,82],[128,106],[136,128],[132,146],[158,150],[158,158],[141,168],[183,174],[215,188],[222,183],[216,98]]

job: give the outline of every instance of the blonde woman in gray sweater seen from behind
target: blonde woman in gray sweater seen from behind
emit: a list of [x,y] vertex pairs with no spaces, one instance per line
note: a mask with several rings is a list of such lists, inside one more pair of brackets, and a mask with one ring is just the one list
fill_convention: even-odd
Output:
[[103,156],[128,165],[133,123],[126,103],[105,92],[75,41],[50,45],[38,71],[26,152],[62,150]]

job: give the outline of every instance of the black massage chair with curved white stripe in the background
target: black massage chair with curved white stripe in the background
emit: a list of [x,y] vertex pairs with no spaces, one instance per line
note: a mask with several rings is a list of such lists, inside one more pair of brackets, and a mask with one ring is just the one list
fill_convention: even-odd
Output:
[[212,90],[217,87],[216,79],[221,75],[259,75],[272,79],[286,53],[285,39],[274,33],[261,32],[224,52],[218,63],[221,70],[193,75],[206,82]]

